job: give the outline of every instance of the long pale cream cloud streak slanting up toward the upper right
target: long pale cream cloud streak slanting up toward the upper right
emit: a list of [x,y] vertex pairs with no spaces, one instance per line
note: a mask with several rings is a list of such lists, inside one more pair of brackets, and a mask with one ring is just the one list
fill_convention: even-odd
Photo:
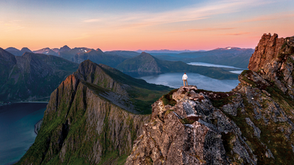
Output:
[[[120,16],[109,16],[103,19],[103,23],[119,26],[118,28],[139,28],[144,26],[159,25],[165,23],[179,23],[183,21],[197,21],[211,18],[223,13],[234,13],[242,8],[258,6],[271,3],[264,0],[227,0],[227,1],[209,1],[200,6],[192,5],[186,8],[180,8],[173,11],[161,13],[124,13]],[[90,19],[84,22],[96,22],[101,18]]]

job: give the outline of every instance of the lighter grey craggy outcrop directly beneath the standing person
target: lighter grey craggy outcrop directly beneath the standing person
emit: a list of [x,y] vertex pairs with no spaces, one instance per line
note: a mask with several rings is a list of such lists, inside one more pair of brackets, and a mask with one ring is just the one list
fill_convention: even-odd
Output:
[[239,127],[213,107],[210,95],[214,93],[182,86],[162,96],[152,105],[150,122],[125,164],[231,164],[223,144],[229,135],[234,139],[232,152],[244,164],[256,164]]

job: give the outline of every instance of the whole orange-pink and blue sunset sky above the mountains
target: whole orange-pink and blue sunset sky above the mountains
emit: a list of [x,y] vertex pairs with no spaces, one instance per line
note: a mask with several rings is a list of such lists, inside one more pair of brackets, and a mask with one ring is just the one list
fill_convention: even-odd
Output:
[[254,48],[294,35],[293,0],[1,0],[0,47],[106,50]]

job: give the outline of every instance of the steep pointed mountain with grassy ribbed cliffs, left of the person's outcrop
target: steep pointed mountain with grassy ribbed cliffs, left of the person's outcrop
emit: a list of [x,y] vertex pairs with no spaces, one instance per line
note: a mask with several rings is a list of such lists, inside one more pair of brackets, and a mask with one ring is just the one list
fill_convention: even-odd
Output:
[[138,115],[150,112],[137,97],[166,90],[86,60],[51,94],[35,143],[18,164],[123,164],[150,118]]

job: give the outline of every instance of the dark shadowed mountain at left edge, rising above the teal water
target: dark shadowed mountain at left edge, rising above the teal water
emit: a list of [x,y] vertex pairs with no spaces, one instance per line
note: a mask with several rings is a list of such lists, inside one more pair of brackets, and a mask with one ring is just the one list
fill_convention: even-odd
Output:
[[1,80],[0,100],[48,99],[78,64],[52,55],[26,52],[23,56],[13,56],[0,50]]

